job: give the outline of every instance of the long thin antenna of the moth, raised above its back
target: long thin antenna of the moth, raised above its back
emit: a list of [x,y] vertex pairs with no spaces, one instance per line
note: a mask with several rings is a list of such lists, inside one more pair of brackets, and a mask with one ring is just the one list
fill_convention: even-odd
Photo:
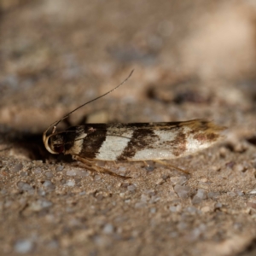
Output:
[[[109,93],[113,92],[113,90],[117,90],[119,88],[119,86],[121,86],[122,84],[125,84],[125,82],[131,78],[131,75],[133,73],[134,69],[131,70],[131,73],[128,75],[128,77],[119,85],[117,85],[116,87],[114,87],[112,90],[108,90],[108,92],[102,94],[101,96],[97,96],[95,99],[90,100],[89,102],[85,102],[84,104],[82,104],[81,106],[79,106],[78,108],[73,109],[73,111],[67,113],[64,117],[62,117],[61,119],[59,119],[58,121],[55,121],[54,123],[52,123],[51,125],[49,125],[49,127],[44,131],[43,134],[43,141],[44,141],[44,146],[49,150],[49,152],[53,153],[53,151],[49,148],[48,145],[48,141],[49,141],[49,137],[51,137],[53,134],[55,134],[57,125],[59,125],[61,123],[61,121],[63,121],[64,119],[67,119],[67,117],[74,113],[75,111],[77,111],[79,108],[83,108],[85,105],[89,104],[90,102],[95,102],[96,100],[102,98],[103,96],[108,95]],[[53,131],[51,132],[51,134],[49,136],[47,136],[47,132],[49,131],[49,129],[53,127]],[[53,153],[54,154],[54,153]]]

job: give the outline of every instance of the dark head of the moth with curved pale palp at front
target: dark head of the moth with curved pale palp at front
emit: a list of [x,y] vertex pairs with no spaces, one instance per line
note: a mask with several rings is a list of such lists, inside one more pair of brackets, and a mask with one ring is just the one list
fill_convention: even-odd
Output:
[[61,132],[55,132],[56,126],[53,126],[53,131],[50,135],[47,135],[47,129],[43,134],[44,147],[51,154],[61,154],[65,152],[64,137]]

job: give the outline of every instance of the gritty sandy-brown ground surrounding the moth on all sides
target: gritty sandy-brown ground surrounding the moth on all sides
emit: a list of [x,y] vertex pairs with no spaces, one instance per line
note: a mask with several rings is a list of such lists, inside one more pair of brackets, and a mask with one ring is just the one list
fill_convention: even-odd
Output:
[[[0,1],[1,255],[255,255],[256,58],[253,1]],[[49,154],[68,121],[207,118],[212,148],[170,161]],[[67,127],[62,124],[60,128]]]

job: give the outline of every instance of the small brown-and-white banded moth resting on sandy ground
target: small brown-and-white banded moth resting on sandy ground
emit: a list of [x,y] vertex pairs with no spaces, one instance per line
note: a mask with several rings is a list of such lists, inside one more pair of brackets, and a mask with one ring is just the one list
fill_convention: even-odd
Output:
[[[124,84],[132,73],[133,71],[113,90]],[[102,96],[106,96],[113,90],[109,90]],[[117,177],[123,176],[96,166],[94,161],[153,160],[166,165],[161,160],[172,160],[187,154],[194,154],[212,146],[221,137],[220,131],[225,129],[206,119],[193,119],[162,123],[86,124],[70,127],[66,131],[56,131],[57,125],[62,120],[67,119],[71,113],[90,102],[75,108],[62,119],[49,125],[43,134],[44,146],[51,154],[73,155],[74,160],[83,162],[90,171],[105,172]],[[47,135],[50,128],[52,132]]]

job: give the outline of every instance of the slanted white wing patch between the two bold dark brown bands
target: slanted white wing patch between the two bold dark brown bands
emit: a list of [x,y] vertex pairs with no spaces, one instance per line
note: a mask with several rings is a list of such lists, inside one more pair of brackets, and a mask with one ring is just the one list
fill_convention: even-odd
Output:
[[131,141],[133,131],[126,130],[116,136],[109,135],[107,132],[106,140],[102,143],[99,154],[97,154],[97,160],[116,160],[119,154],[121,154],[127,144]]

